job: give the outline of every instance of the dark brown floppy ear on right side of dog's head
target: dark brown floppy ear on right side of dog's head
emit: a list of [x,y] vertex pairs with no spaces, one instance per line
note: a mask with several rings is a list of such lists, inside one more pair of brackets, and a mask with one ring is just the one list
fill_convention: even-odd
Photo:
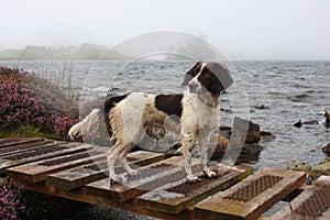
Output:
[[210,70],[213,74],[210,85],[212,97],[218,97],[224,92],[233,82],[229,69],[220,64],[212,65]]

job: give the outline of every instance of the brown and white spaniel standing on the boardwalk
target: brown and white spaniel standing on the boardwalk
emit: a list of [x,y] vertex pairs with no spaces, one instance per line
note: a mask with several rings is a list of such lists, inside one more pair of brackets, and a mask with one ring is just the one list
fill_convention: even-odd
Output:
[[[180,135],[184,157],[183,168],[188,182],[199,178],[191,172],[191,151],[199,147],[204,173],[215,177],[216,173],[207,166],[207,144],[212,131],[218,127],[220,113],[220,95],[232,84],[229,70],[222,65],[198,62],[186,75],[183,85],[188,85],[185,95],[152,95],[132,92],[114,97],[106,101],[105,116],[109,119],[111,141],[113,146],[107,153],[109,178],[120,182],[114,173],[114,162],[118,160],[129,175],[136,175],[127,155],[144,135],[144,125],[162,124]],[[94,109],[81,122],[70,128],[68,136],[74,139],[88,132],[94,124],[100,123],[101,108]]]

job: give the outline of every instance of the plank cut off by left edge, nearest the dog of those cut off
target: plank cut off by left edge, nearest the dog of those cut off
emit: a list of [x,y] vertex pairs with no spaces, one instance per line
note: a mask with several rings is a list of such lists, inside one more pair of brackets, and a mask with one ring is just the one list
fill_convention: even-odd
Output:
[[75,152],[82,152],[90,150],[91,147],[91,145],[86,145],[82,143],[65,143],[56,144],[46,148],[37,148],[31,152],[8,155],[0,158],[0,173],[4,173],[8,168],[13,166],[46,160],[54,156],[67,155]]

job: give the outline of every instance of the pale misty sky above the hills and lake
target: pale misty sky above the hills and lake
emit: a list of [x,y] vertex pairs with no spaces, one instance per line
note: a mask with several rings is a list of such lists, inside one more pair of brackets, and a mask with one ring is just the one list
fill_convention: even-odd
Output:
[[0,0],[0,50],[204,35],[232,59],[330,59],[328,0]]

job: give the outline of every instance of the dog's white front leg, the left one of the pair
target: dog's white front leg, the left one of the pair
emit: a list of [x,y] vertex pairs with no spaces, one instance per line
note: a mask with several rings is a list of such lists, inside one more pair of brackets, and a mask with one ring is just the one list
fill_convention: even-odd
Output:
[[187,180],[189,183],[196,183],[200,180],[197,176],[194,176],[191,170],[191,152],[196,142],[194,142],[194,136],[191,134],[183,134],[182,135],[182,144],[183,144],[183,157],[184,157],[184,169],[187,175]]

